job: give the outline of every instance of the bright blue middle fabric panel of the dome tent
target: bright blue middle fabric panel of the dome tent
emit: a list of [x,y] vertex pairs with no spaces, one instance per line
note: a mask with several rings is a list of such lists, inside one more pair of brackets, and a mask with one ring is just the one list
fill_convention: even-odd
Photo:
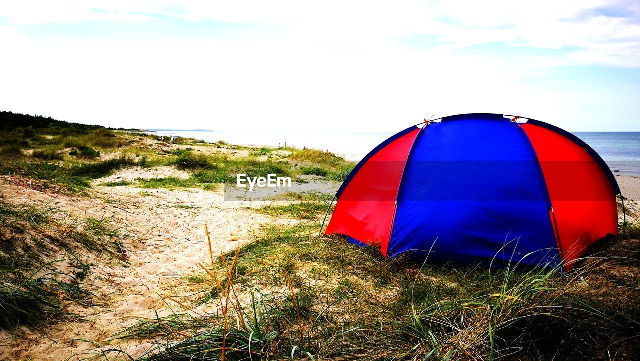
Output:
[[388,254],[557,265],[547,197],[518,125],[483,114],[445,118],[423,130],[407,161]]

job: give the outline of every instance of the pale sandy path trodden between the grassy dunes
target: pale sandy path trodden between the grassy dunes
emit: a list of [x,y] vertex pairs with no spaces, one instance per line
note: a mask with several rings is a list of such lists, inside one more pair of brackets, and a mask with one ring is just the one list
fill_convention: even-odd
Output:
[[[176,284],[175,277],[199,272],[199,265],[209,262],[205,223],[211,231],[214,252],[219,254],[220,250],[249,242],[252,231],[263,224],[292,222],[275,220],[250,210],[252,206],[260,206],[260,202],[225,202],[221,191],[96,187],[92,198],[88,198],[44,192],[3,177],[0,178],[0,192],[14,203],[51,203],[74,215],[115,217],[140,234],[140,239],[125,243],[131,250],[129,265],[96,260],[92,267],[88,282],[95,285],[93,291],[97,298],[108,305],[72,306],[70,311],[86,316],[72,323],[54,325],[42,333],[28,333],[26,340],[0,344],[0,358],[3,359],[79,358],[84,351],[104,344],[109,336],[131,322],[129,318],[153,317],[157,310],[160,314],[168,312],[163,295],[171,292],[170,286]],[[0,338],[7,336],[1,334]],[[142,342],[137,340],[122,342],[120,346],[134,357],[148,346],[136,347]],[[117,342],[112,342],[111,346],[114,344]]]

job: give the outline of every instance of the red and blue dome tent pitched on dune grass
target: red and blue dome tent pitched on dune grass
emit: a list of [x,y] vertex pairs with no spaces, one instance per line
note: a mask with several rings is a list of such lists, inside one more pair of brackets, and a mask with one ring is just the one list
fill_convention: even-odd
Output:
[[520,119],[461,114],[393,135],[346,178],[325,234],[389,257],[569,270],[618,233],[620,187],[578,137]]

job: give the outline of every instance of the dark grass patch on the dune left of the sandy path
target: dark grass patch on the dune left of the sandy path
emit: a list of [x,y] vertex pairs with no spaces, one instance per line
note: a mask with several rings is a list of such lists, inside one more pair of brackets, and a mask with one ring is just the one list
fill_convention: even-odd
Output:
[[[48,204],[0,200],[0,328],[42,327],[71,317],[69,302],[93,303],[81,283],[97,256],[127,258],[120,240],[131,233],[115,220],[72,217]],[[71,274],[59,263],[75,266]]]

